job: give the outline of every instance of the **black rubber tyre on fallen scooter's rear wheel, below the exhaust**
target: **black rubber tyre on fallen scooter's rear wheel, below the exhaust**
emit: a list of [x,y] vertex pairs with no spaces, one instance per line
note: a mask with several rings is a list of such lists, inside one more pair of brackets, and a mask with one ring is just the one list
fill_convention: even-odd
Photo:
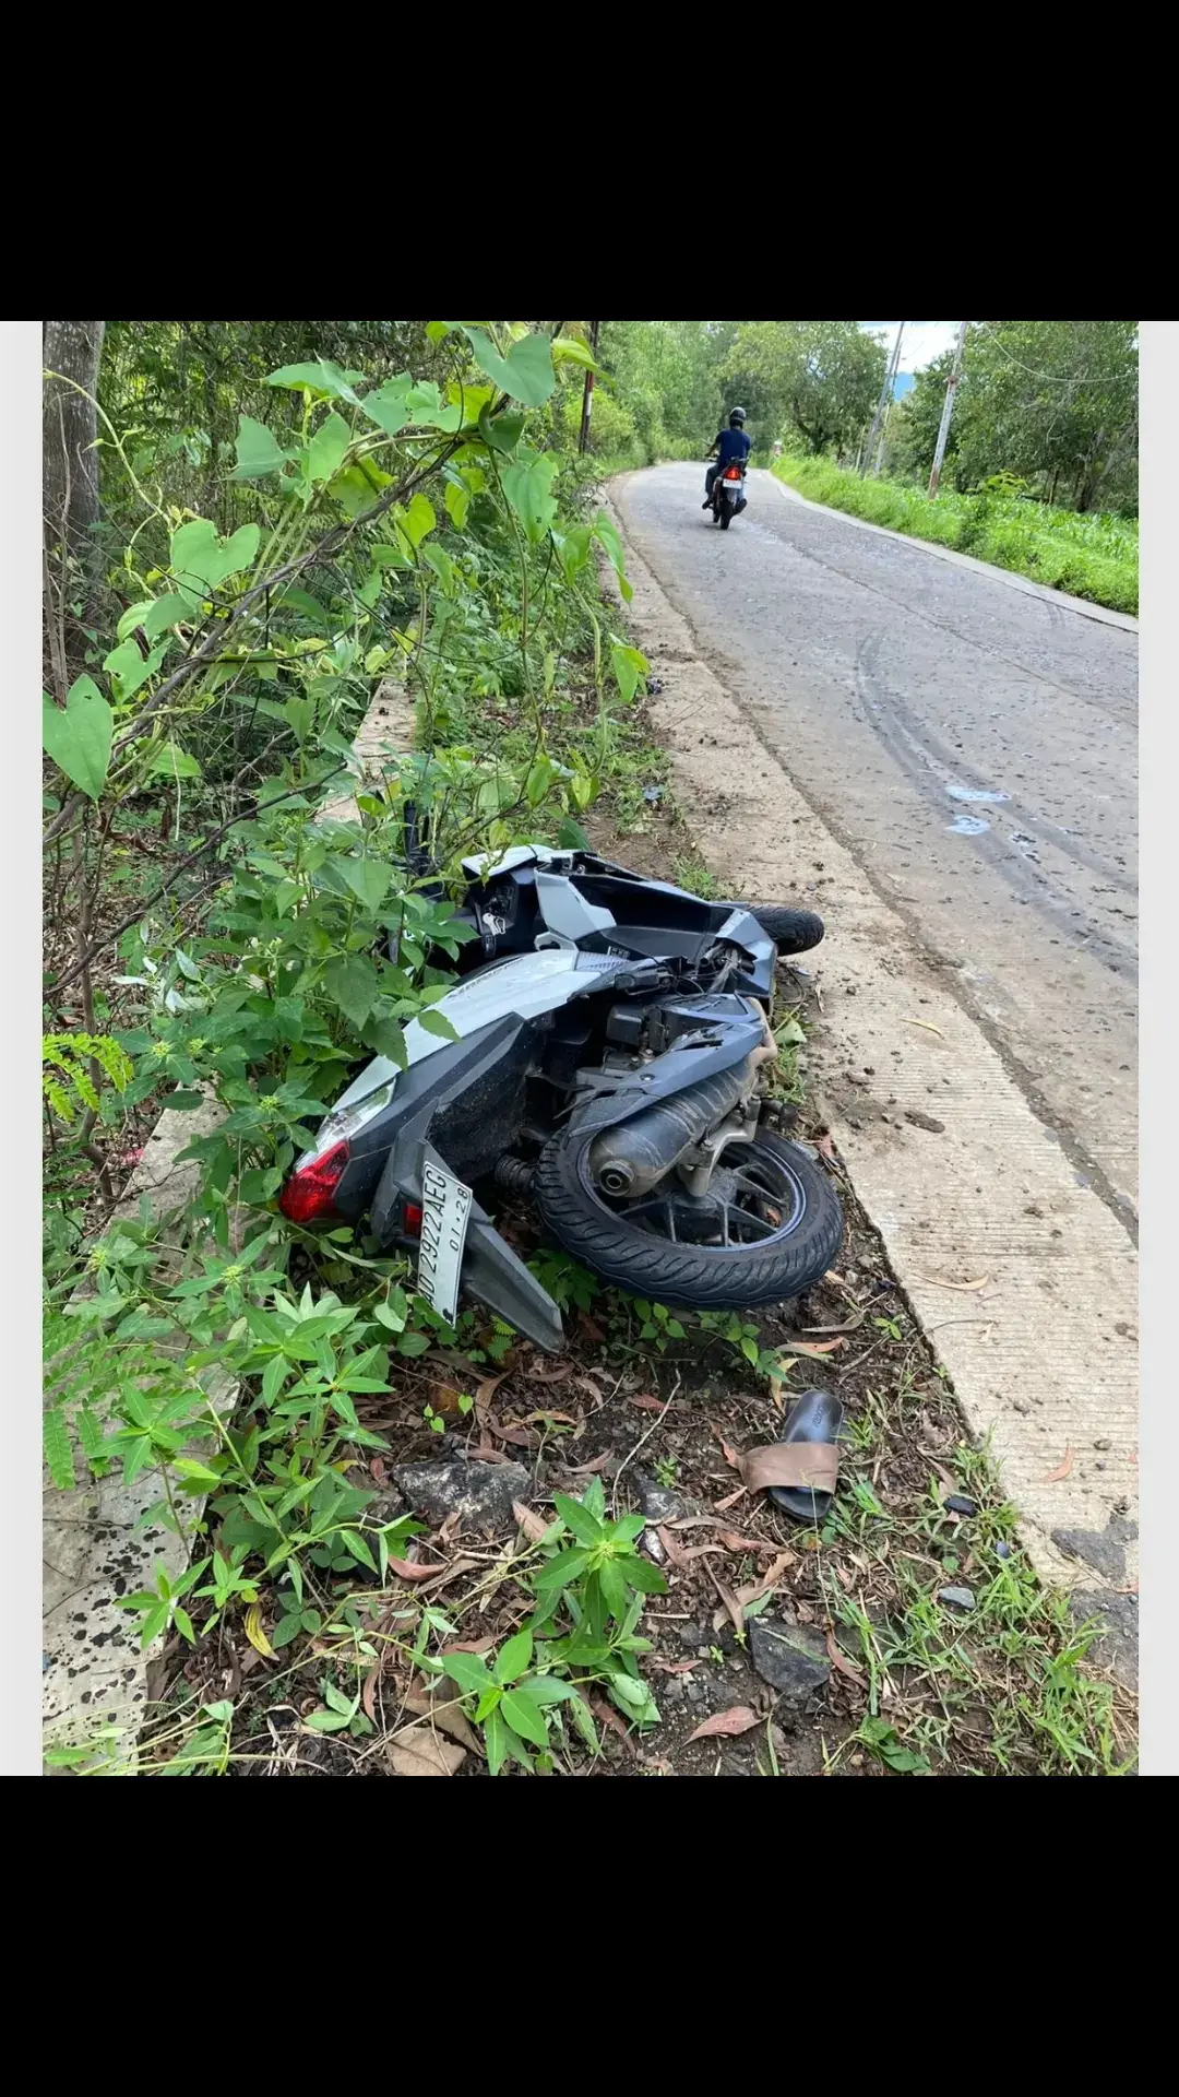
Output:
[[577,1153],[590,1139],[566,1128],[545,1143],[533,1179],[537,1210],[560,1246],[604,1281],[669,1309],[741,1311],[787,1302],[814,1288],[843,1244],[843,1212],[822,1166],[772,1130],[757,1147],[789,1162],[806,1191],[799,1229],[768,1252],[736,1260],[703,1246],[657,1239],[602,1210],[581,1185]]

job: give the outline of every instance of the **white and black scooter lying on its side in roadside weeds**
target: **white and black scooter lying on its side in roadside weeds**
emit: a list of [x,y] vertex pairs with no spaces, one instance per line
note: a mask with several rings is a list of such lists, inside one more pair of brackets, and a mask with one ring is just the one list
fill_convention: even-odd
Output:
[[774,950],[818,946],[822,921],[705,902],[590,851],[462,864],[474,937],[434,1004],[457,1040],[411,1021],[407,1069],[378,1057],[359,1074],[283,1214],[367,1216],[378,1248],[417,1250],[447,1323],[466,1290],[550,1350],[560,1309],[495,1229],[497,1195],[529,1197],[573,1258],[669,1306],[753,1309],[818,1281],[843,1218],[776,1126],[768,1015]]

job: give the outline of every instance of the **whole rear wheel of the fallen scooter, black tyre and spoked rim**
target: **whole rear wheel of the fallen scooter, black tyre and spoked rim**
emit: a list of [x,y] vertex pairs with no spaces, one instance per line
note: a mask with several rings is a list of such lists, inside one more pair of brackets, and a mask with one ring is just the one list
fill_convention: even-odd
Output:
[[843,1241],[843,1212],[818,1160],[759,1128],[728,1143],[709,1193],[676,1172],[636,1202],[613,1202],[590,1176],[594,1132],[545,1143],[533,1176],[537,1210],[566,1252],[604,1281],[669,1306],[738,1311],[801,1296]]

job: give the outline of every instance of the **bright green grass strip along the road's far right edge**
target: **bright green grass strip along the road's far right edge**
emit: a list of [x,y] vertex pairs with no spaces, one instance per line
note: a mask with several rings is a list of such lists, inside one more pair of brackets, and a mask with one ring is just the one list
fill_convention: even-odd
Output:
[[829,459],[774,459],[772,472],[810,501],[869,524],[973,554],[1034,583],[1137,614],[1137,522],[1078,516],[1017,495],[952,495],[936,501],[898,480],[860,480]]

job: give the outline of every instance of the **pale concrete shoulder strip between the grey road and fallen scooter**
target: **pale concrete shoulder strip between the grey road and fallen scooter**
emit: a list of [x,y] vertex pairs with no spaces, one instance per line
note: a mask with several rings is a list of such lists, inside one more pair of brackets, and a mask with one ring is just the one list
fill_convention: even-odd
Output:
[[[625,514],[617,516],[625,531]],[[904,918],[803,797],[759,715],[627,556],[627,625],[661,679],[650,719],[724,887],[822,910],[810,1048],[856,1195],[988,1436],[1043,1579],[1137,1648],[1137,1254]]]

